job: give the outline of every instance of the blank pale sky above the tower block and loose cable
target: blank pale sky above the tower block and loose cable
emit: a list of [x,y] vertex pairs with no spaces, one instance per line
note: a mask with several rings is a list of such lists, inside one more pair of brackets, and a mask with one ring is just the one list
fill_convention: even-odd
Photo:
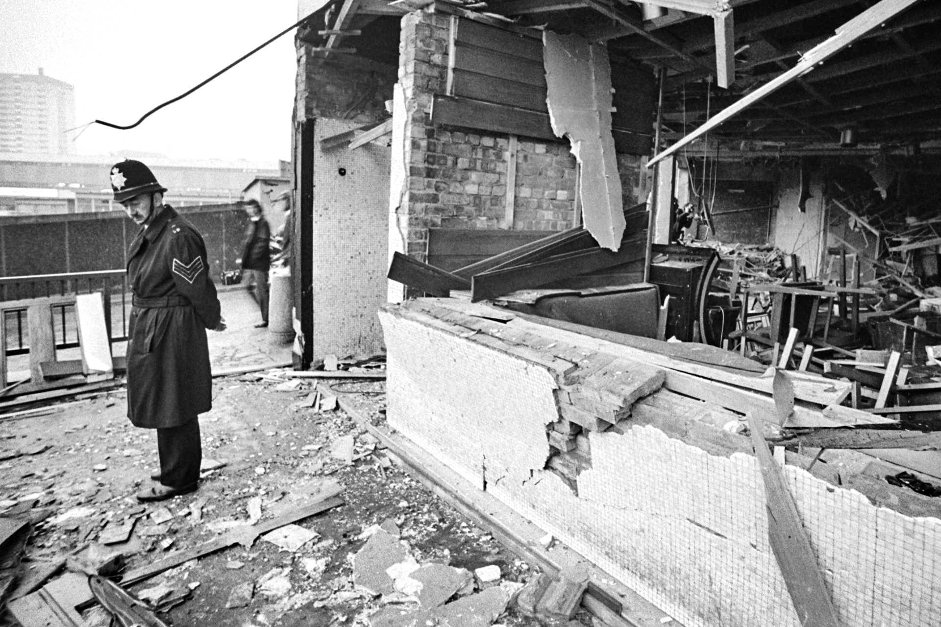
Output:
[[[0,72],[41,67],[75,86],[76,125],[126,125],[296,15],[297,0],[0,0]],[[77,151],[288,160],[295,69],[292,32],[132,131],[92,125]]]

